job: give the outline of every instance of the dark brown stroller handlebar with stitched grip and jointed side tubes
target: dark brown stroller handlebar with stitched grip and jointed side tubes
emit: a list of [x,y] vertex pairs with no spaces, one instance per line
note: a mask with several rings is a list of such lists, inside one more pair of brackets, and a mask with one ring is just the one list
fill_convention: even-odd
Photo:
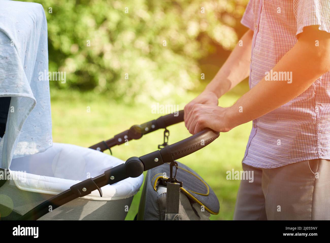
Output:
[[[167,126],[171,126],[182,121],[183,110],[178,112],[178,116],[168,114],[141,125],[134,125],[129,130],[115,135],[114,138],[99,142],[89,148],[99,150],[101,152],[107,149],[110,149],[111,151],[111,147],[115,145],[120,145],[133,139],[140,139],[145,134],[162,128],[166,129]],[[175,166],[175,160],[201,149],[202,147],[213,142],[217,137],[219,137],[219,132],[206,128],[203,131],[174,144],[166,145],[164,142],[164,147],[160,150],[156,150],[140,157],[131,157],[127,159],[124,164],[111,168],[105,171],[102,175],[74,184],[68,190],[53,196],[49,200],[31,209],[19,218],[19,220],[37,220],[47,214],[49,212],[49,208],[54,210],[78,197],[88,195],[94,190],[98,190],[100,196],[102,197],[102,186],[114,184],[129,177],[139,177],[144,171],[160,166],[164,163],[170,163],[172,172],[172,167]],[[178,181],[175,179],[175,176],[172,176],[171,173],[168,182],[174,183]]]

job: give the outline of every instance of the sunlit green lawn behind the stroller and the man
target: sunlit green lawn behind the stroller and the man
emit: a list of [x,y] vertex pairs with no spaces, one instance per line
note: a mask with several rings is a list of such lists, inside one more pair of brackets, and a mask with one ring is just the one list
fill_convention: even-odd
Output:
[[[247,91],[246,82],[221,97],[219,105],[229,106]],[[186,97],[170,97],[183,109],[186,102],[193,99],[197,92],[191,92]],[[87,112],[87,106],[90,112]],[[158,118],[162,114],[152,114],[151,104],[124,105],[116,103],[106,95],[93,93],[51,91],[53,141],[71,143],[84,147],[112,138],[115,134],[128,129],[135,124],[141,124]],[[220,212],[212,215],[212,220],[231,220],[234,213],[236,194],[239,181],[226,180],[226,171],[241,170],[241,161],[245,152],[251,124],[243,124],[220,137],[206,148],[180,159],[195,170],[215,191]],[[182,140],[190,134],[183,123],[169,127],[169,142]],[[116,146],[113,155],[126,160],[131,156],[141,156],[157,149],[163,142],[163,130],[155,131],[141,138],[130,141],[128,146]],[[109,152],[107,152],[109,153]],[[138,211],[141,191],[134,197],[126,220],[134,219]]]

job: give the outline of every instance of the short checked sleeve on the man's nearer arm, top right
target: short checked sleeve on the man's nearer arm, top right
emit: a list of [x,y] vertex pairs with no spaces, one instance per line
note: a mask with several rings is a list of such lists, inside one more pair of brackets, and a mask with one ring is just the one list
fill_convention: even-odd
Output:
[[297,6],[297,33],[310,25],[318,25],[319,30],[330,33],[330,1],[299,0]]

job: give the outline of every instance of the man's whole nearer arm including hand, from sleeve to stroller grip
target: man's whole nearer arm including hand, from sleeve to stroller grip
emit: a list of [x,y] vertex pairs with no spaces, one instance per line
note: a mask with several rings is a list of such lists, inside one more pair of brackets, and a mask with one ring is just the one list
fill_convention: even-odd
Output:
[[[315,40],[319,46],[315,46]],[[187,115],[189,132],[195,134],[206,127],[227,132],[302,94],[330,71],[330,33],[318,30],[317,26],[305,27],[294,47],[275,65],[275,71],[292,72],[292,83],[263,78],[231,107],[195,104]],[[239,112],[241,107],[243,112]]]

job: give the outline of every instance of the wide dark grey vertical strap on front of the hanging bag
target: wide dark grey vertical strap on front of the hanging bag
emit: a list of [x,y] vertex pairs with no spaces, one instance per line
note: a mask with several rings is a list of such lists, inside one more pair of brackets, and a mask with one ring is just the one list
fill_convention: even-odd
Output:
[[180,184],[167,182],[165,220],[179,220]]

